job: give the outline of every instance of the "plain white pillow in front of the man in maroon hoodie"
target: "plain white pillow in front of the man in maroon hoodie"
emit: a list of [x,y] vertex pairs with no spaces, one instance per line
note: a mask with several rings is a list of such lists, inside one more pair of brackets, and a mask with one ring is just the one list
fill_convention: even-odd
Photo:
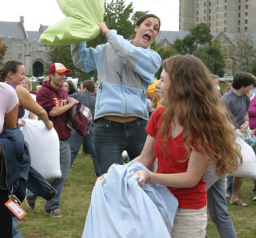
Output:
[[31,166],[45,179],[61,177],[59,137],[54,128],[47,130],[43,121],[24,119],[24,138],[29,145]]

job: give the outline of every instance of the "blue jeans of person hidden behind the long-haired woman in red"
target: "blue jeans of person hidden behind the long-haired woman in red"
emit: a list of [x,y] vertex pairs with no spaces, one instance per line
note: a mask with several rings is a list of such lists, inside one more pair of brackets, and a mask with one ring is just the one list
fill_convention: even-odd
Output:
[[204,181],[207,183],[207,210],[221,237],[235,238],[236,230],[228,213],[226,202],[226,175],[219,178],[213,174],[212,167],[207,168]]

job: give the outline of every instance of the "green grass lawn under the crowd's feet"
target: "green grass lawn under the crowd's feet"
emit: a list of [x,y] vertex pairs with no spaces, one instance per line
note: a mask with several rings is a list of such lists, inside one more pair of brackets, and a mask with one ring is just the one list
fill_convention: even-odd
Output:
[[[22,237],[81,237],[90,206],[92,189],[96,181],[93,174],[92,159],[89,156],[83,156],[79,151],[61,195],[60,209],[63,217],[52,218],[47,215],[44,212],[45,200],[43,198],[38,197],[36,199],[34,211],[29,210],[26,204],[23,203],[22,207],[28,214],[19,221],[18,230],[20,230]],[[256,202],[252,201],[252,189],[252,179],[244,179],[239,198],[246,202],[249,207],[228,205],[228,212],[232,215],[237,237],[256,237]],[[211,238],[220,237],[216,226],[210,219],[207,226],[207,235]]]

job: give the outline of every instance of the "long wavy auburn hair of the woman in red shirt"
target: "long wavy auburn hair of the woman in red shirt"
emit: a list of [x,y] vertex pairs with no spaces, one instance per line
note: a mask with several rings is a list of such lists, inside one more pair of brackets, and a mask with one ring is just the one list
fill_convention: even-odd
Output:
[[[176,118],[184,128],[184,147],[188,160],[191,151],[200,151],[212,163],[217,175],[230,174],[243,163],[230,112],[218,96],[208,68],[195,56],[173,56],[163,61],[170,77],[169,104],[157,137],[166,154],[171,126]],[[196,148],[195,148],[196,147]]]

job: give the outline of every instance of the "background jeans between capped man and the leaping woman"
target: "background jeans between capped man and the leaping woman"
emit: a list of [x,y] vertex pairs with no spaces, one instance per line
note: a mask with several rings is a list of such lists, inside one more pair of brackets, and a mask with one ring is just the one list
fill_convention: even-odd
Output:
[[94,145],[93,145],[93,135],[94,135],[94,125],[91,124],[89,128],[89,133],[86,134],[85,137],[81,137],[81,135],[77,134],[75,130],[71,131],[71,137],[70,137],[70,151],[71,151],[71,163],[70,167],[74,163],[77,153],[81,147],[81,144],[84,142],[86,144],[86,147],[88,148],[88,152],[91,154],[92,160],[93,160],[93,166],[95,170],[95,174],[99,177],[99,167],[97,158],[95,155]]

